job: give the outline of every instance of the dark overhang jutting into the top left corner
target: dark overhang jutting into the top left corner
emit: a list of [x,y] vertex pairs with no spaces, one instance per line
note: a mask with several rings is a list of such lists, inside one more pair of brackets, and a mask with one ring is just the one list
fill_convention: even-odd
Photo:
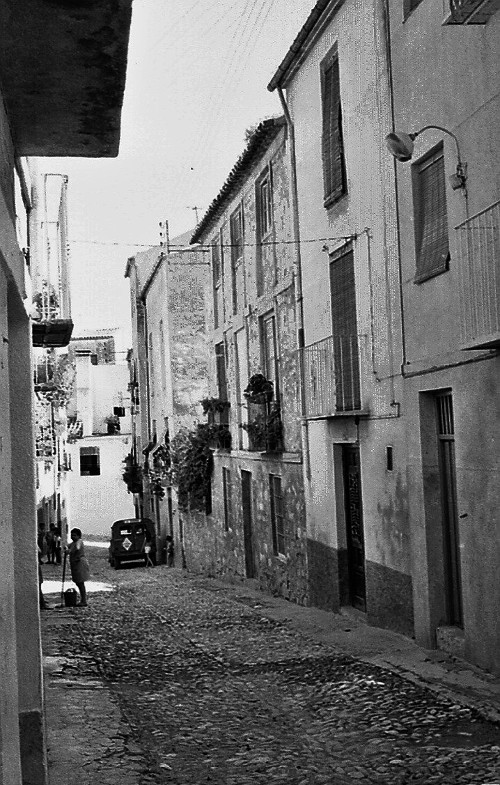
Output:
[[2,94],[19,156],[116,156],[132,0],[0,0]]

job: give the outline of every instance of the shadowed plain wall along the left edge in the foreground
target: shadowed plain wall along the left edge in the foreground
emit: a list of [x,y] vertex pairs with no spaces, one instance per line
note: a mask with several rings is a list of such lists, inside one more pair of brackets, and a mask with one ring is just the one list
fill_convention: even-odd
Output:
[[[0,96],[1,98],[1,96]],[[0,100],[0,782],[43,783],[31,328],[17,245],[14,153]],[[23,733],[30,729],[29,743]],[[27,738],[27,737],[25,737]]]

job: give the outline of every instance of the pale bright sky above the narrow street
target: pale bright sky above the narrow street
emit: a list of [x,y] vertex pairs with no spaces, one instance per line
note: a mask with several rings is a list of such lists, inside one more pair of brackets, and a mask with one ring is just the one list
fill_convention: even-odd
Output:
[[281,114],[267,84],[314,4],[134,0],[118,157],[41,161],[69,177],[74,335],[118,327],[131,345],[127,259],[159,244],[161,221],[171,238],[194,228],[245,130]]

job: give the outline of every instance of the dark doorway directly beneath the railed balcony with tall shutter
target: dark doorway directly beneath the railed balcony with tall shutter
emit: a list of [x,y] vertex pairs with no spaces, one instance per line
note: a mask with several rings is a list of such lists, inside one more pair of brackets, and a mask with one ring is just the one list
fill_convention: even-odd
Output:
[[344,468],[349,599],[354,608],[366,611],[365,546],[359,447],[356,444],[344,445],[342,457]]

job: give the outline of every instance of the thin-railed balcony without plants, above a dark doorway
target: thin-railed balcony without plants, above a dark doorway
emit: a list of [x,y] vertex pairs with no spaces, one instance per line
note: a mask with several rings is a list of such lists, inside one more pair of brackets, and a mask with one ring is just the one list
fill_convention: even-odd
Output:
[[359,347],[365,336],[330,335],[302,349],[306,417],[361,412]]

